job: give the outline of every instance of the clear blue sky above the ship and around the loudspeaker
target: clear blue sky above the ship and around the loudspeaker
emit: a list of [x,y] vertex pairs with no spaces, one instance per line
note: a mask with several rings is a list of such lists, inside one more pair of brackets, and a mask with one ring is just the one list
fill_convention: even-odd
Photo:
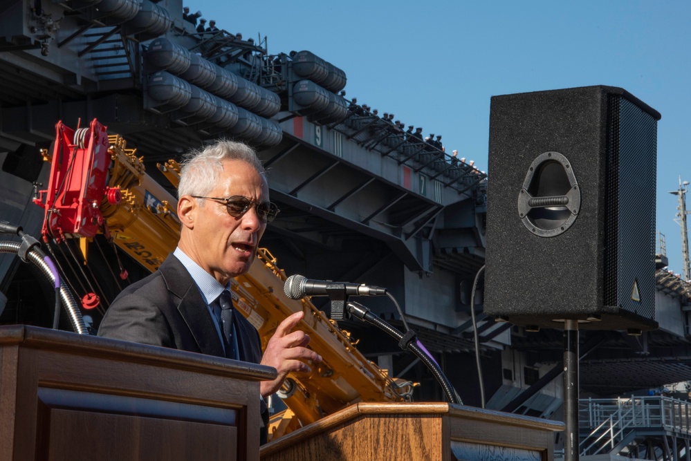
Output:
[[[682,272],[674,222],[691,180],[691,1],[218,1],[192,11],[272,54],[310,50],[342,68],[347,97],[393,112],[487,170],[490,97],[620,86],[662,114],[657,229]],[[645,165],[641,165],[645,168]],[[492,172],[487,171],[492,178]],[[691,198],[689,207],[691,208]]]

